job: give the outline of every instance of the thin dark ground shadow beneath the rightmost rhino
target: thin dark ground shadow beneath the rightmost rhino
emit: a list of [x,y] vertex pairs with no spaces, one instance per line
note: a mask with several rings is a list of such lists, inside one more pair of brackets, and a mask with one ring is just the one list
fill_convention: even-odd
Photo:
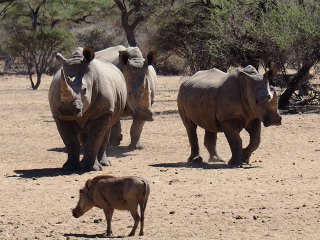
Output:
[[242,166],[230,166],[226,163],[188,163],[188,162],[177,162],[177,163],[156,163],[150,164],[151,167],[162,167],[162,168],[201,168],[201,169],[250,169],[256,168],[250,164]]

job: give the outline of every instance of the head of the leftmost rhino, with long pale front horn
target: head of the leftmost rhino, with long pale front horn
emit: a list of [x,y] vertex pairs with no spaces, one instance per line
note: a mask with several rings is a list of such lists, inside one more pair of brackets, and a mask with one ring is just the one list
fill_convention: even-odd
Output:
[[92,97],[92,72],[90,62],[94,51],[90,48],[77,48],[70,59],[57,53],[61,63],[60,111],[70,117],[81,117],[89,108]]

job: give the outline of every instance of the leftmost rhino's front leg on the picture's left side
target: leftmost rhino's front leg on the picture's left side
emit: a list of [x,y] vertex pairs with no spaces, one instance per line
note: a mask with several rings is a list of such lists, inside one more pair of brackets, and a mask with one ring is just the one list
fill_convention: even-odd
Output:
[[68,159],[62,168],[65,171],[78,171],[80,170],[80,142],[74,123],[61,121],[59,119],[55,121],[68,153]]

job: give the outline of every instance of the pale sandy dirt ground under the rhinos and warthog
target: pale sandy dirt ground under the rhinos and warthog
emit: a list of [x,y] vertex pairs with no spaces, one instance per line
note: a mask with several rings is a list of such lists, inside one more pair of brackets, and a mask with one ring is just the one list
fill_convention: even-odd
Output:
[[[320,239],[320,115],[283,115],[263,128],[251,167],[188,165],[189,144],[177,114],[180,77],[160,77],[154,122],[143,131],[144,150],[110,149],[111,167],[82,175],[61,171],[64,145],[49,110],[51,78],[39,90],[21,76],[0,76],[0,239],[100,239],[103,211],[79,219],[70,209],[88,178],[137,175],[149,180],[145,236],[133,239]],[[200,142],[203,130],[199,129]],[[218,151],[228,160],[223,134]],[[243,134],[247,143],[247,135]],[[203,145],[201,152],[208,158]],[[113,232],[126,236],[133,220],[115,211]]]

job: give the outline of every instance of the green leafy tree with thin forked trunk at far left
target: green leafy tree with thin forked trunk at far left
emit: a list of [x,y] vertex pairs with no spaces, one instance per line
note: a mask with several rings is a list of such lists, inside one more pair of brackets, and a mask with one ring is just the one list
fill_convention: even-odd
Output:
[[[110,7],[110,1],[84,0],[13,0],[0,2],[2,27],[10,34],[8,49],[22,59],[28,70],[31,87],[37,89],[53,56],[73,46],[73,36],[66,23],[89,23],[100,9]],[[12,22],[15,22],[12,25]],[[35,70],[37,80],[32,79]]]

